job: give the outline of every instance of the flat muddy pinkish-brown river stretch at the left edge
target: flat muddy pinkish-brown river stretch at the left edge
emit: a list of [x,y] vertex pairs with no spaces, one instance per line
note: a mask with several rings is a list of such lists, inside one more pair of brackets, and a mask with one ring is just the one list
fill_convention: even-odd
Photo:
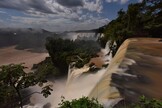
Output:
[[35,53],[28,50],[17,50],[16,46],[0,48],[0,66],[6,64],[19,64],[25,63],[24,66],[28,67],[26,71],[30,71],[33,64],[43,61],[48,53]]

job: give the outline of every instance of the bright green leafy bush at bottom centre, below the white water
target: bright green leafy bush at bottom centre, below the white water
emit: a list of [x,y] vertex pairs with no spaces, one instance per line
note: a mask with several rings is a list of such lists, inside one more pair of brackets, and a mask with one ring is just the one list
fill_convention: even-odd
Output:
[[65,98],[62,97],[59,108],[103,108],[103,106],[94,98],[82,97],[72,101],[65,101]]

